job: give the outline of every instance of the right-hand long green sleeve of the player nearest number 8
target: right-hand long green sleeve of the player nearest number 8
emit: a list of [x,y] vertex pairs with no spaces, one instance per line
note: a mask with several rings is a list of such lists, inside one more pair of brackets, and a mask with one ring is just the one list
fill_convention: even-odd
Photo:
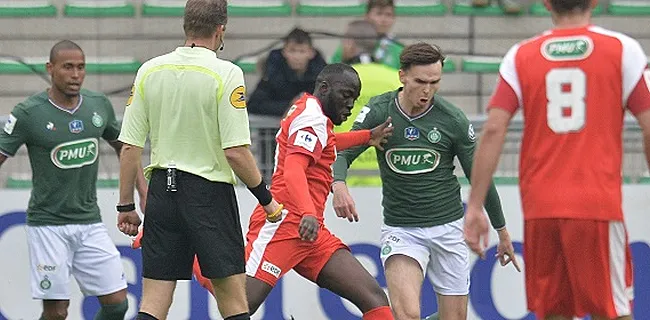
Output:
[[[465,176],[469,179],[472,176],[472,162],[474,158],[474,149],[476,147],[476,134],[474,127],[469,122],[469,119],[459,111],[458,119],[458,135],[454,143],[454,148],[458,161]],[[471,181],[470,181],[471,183]],[[499,193],[494,183],[490,184],[487,197],[485,198],[485,210],[490,218],[490,223],[494,229],[501,229],[505,227],[506,221],[503,216],[503,209],[501,208],[501,200]]]

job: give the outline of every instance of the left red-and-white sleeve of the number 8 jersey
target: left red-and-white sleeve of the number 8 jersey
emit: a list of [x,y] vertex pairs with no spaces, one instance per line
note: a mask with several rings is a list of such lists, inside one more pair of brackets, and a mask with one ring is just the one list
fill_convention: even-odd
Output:
[[499,67],[499,79],[492,98],[490,98],[488,110],[499,108],[515,113],[521,105],[521,84],[516,64],[518,51],[519,45],[517,44],[503,57]]

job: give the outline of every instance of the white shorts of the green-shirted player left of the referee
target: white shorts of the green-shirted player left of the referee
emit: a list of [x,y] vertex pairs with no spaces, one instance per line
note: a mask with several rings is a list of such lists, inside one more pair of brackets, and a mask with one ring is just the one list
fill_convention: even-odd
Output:
[[126,288],[120,253],[102,223],[27,226],[32,297],[69,300],[70,275],[86,296]]

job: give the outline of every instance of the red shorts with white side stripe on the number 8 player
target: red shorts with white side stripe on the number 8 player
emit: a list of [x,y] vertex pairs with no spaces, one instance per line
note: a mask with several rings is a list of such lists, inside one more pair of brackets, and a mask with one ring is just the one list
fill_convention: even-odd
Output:
[[620,221],[524,223],[528,309],[545,316],[631,315],[632,256]]

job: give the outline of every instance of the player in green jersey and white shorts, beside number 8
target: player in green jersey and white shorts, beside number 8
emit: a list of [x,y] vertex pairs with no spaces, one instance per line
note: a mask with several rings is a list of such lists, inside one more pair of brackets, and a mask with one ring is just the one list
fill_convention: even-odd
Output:
[[[388,117],[393,119],[393,136],[384,151],[376,152],[383,192],[381,259],[391,306],[400,320],[420,319],[420,291],[427,272],[440,318],[467,318],[469,250],[453,161],[457,157],[470,176],[476,136],[463,112],[435,95],[443,61],[439,49],[429,44],[406,47],[400,56],[403,87],[372,98],[352,128],[373,128]],[[346,173],[365,148],[340,152],[334,164],[334,209],[350,221],[358,220],[358,215],[345,184]],[[499,255],[514,259],[494,185],[486,209],[499,233]]]

